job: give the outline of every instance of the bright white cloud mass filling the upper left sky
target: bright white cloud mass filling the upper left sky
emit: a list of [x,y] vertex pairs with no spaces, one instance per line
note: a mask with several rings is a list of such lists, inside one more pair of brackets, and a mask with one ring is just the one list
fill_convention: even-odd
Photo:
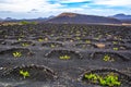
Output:
[[39,11],[50,11],[55,8],[62,7],[59,3],[49,4],[47,0],[4,0],[0,1],[0,11],[28,12],[32,9]]

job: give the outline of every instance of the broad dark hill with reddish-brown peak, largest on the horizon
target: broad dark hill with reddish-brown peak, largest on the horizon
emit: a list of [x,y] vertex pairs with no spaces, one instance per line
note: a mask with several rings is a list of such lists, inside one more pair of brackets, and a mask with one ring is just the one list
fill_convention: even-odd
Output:
[[56,17],[47,20],[48,23],[64,23],[64,24],[121,24],[119,20],[97,16],[97,15],[85,15],[78,13],[61,13]]

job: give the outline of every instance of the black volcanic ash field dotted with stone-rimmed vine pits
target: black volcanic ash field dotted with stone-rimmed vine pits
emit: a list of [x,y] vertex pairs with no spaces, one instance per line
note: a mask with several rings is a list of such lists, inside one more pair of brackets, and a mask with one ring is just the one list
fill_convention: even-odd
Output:
[[0,87],[131,87],[131,27],[1,25]]

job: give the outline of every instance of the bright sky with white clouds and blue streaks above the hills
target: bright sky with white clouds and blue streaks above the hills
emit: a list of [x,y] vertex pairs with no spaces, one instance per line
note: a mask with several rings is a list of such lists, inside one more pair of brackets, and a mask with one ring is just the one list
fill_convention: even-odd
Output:
[[0,17],[36,18],[74,12],[93,15],[131,14],[131,0],[0,0]]

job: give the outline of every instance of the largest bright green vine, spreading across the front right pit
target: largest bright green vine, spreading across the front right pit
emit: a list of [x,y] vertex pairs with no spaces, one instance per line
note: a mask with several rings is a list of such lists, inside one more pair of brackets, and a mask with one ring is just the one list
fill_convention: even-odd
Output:
[[91,74],[85,74],[84,78],[90,80],[91,83],[99,84],[102,86],[114,87],[121,85],[121,82],[119,82],[118,76],[115,75],[114,73],[107,74],[105,76],[91,73]]

